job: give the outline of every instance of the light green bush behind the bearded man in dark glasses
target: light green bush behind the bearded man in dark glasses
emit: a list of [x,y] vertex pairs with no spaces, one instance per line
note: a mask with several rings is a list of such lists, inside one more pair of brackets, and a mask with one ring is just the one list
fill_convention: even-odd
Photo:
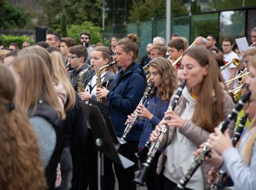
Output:
[[92,22],[83,22],[83,24],[69,25],[67,33],[70,38],[73,38],[76,44],[80,44],[80,33],[89,31],[91,34],[91,44],[102,42],[102,28],[92,24]]

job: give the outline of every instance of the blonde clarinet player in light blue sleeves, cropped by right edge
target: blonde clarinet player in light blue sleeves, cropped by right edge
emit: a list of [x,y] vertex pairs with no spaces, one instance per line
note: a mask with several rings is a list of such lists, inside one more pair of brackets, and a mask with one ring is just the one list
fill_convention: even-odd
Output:
[[[246,80],[246,84],[249,85],[249,90],[251,91],[249,105],[252,103],[251,101],[256,101],[256,56],[252,57],[250,64],[251,76]],[[244,108],[246,108],[246,105]],[[214,151],[212,151],[212,158],[206,159],[215,168],[228,172],[234,182],[235,190],[256,189],[255,125],[256,116],[252,119],[251,125],[247,128],[246,133],[243,134],[236,147],[232,146],[230,137],[227,135],[228,130],[223,134],[220,129],[215,128],[216,135],[210,134],[207,140],[207,146]]]

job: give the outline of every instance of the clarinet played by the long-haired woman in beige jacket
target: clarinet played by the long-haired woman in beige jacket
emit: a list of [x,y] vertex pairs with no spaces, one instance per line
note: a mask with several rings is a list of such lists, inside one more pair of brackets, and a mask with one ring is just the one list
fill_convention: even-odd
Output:
[[[169,104],[167,111],[170,110],[175,110],[175,107],[177,105],[177,102],[179,100],[179,97],[181,96],[182,90],[185,87],[185,80],[179,85],[178,91],[175,94],[175,97],[173,99],[173,102]],[[170,119],[168,119],[170,120]],[[160,126],[161,131],[158,133],[159,136],[157,139],[152,143],[152,146],[150,147],[150,150],[148,151],[148,156],[145,159],[144,163],[142,163],[142,170],[140,171],[139,175],[137,176],[136,179],[134,179],[134,182],[144,186],[144,182],[148,173],[148,170],[150,169],[151,161],[154,158],[154,154],[156,154],[156,150],[159,148],[160,143],[162,142],[162,139],[164,137],[164,134],[167,131],[167,126],[166,125],[161,125]]]

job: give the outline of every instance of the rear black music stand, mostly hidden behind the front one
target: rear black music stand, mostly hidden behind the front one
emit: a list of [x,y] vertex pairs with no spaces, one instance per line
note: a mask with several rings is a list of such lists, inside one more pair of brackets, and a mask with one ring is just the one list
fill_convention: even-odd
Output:
[[102,115],[103,115],[103,117],[104,117],[104,119],[106,121],[106,126],[108,127],[108,131],[111,134],[111,137],[112,137],[113,142],[115,143],[115,145],[117,145],[117,144],[123,145],[124,143],[126,143],[125,140],[123,140],[123,139],[121,139],[121,138],[116,136],[116,131],[114,130],[114,127],[112,125],[111,119],[110,119],[110,117],[108,115],[108,108],[107,108],[107,106],[104,103],[99,102],[99,101],[94,100],[94,99],[89,99],[89,102],[92,105],[99,107],[100,112],[102,113]]

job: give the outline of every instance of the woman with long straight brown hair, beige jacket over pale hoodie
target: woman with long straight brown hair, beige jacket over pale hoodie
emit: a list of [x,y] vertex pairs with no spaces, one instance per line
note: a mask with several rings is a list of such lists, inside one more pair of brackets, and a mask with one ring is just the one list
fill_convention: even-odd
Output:
[[[224,89],[220,68],[208,50],[202,47],[189,48],[183,54],[180,68],[186,80],[185,88],[175,110],[165,112],[164,120],[159,123],[159,126],[168,126],[162,142],[165,151],[157,167],[157,173],[164,171],[165,189],[176,188],[193,160],[192,152],[207,140],[234,106]],[[232,133],[234,122],[230,123],[229,128]],[[151,141],[156,140],[159,131],[161,129],[156,127],[151,133]],[[202,163],[185,189],[209,189],[209,170],[210,166]]]

